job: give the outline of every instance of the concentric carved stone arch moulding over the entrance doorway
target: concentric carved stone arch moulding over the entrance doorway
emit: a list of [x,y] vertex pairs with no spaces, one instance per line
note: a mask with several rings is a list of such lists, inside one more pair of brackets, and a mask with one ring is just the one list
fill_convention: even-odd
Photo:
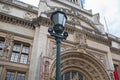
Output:
[[[75,68],[74,68],[75,67]],[[78,68],[78,69],[77,69]],[[94,57],[89,55],[88,53],[82,53],[74,50],[70,50],[64,52],[61,55],[61,71],[62,74],[66,72],[66,70],[77,69],[82,73],[87,80],[91,78],[91,80],[110,80],[109,74],[107,73],[106,68]],[[69,71],[69,70],[68,70]],[[89,71],[89,73],[88,73]],[[55,77],[55,61],[53,62],[50,68],[51,78],[54,80]]]

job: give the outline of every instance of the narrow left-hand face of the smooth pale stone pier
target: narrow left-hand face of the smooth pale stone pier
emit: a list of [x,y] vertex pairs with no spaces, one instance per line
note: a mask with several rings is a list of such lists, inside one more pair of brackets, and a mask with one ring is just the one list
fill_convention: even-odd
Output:
[[38,42],[39,42],[39,29],[40,27],[35,28],[35,34],[34,34],[34,40],[33,40],[33,46],[32,46],[32,52],[31,52],[31,59],[30,59],[30,67],[29,67],[29,75],[28,80],[35,80],[35,74],[36,74],[36,57],[38,53]]

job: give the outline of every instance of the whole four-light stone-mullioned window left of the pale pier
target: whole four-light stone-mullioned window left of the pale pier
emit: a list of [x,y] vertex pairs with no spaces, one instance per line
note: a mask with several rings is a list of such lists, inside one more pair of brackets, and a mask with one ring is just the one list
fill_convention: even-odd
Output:
[[10,61],[27,64],[27,59],[29,55],[29,46],[23,43],[15,43],[13,46],[13,51],[11,54]]

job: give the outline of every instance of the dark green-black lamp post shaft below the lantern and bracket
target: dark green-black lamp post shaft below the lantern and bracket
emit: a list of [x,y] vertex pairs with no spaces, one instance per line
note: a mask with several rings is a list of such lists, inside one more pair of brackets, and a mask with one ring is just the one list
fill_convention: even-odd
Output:
[[61,52],[61,38],[56,37],[56,80],[61,80],[61,65],[60,65],[60,52]]

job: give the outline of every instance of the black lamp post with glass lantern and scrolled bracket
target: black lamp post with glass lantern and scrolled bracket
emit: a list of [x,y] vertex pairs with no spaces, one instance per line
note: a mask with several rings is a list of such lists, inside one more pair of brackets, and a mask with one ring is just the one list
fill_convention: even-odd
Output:
[[51,36],[55,37],[56,40],[56,80],[61,80],[61,65],[60,65],[60,51],[61,51],[61,40],[68,37],[68,33],[64,32],[65,23],[67,20],[66,14],[62,11],[53,12],[51,20],[54,23],[52,28],[48,29]]

